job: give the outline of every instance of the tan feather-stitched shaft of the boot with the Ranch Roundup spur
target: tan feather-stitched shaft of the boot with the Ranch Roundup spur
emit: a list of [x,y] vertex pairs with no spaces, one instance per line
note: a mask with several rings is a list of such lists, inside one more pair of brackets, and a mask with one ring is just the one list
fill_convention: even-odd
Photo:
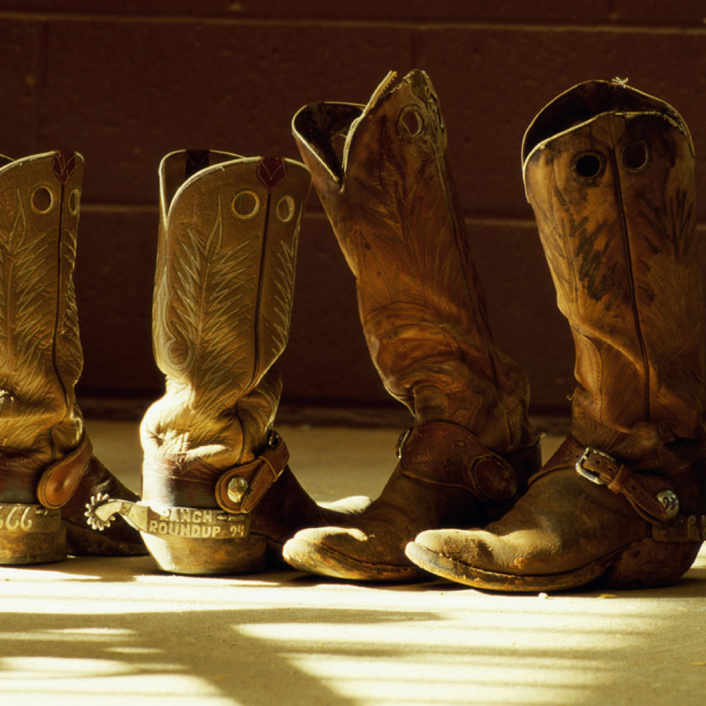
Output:
[[160,166],[152,340],[166,393],[143,421],[145,477],[165,462],[217,468],[265,446],[280,397],[299,219],[298,162],[191,150]]

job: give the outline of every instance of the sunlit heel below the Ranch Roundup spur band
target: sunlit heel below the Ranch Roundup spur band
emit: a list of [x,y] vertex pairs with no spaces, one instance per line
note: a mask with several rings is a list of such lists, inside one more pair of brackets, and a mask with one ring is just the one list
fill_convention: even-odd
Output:
[[264,537],[198,539],[157,537],[140,532],[158,566],[172,573],[191,575],[258,573],[265,570]]

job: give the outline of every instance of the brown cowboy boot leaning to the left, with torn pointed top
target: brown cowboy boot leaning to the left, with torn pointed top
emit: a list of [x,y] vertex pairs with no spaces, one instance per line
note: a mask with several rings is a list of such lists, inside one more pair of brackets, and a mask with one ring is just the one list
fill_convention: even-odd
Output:
[[428,527],[485,524],[537,469],[527,380],[491,337],[426,73],[388,74],[365,106],[306,106],[293,129],[356,277],[373,363],[414,426],[361,517],[299,532],[284,556],[338,578],[414,578],[407,542]]

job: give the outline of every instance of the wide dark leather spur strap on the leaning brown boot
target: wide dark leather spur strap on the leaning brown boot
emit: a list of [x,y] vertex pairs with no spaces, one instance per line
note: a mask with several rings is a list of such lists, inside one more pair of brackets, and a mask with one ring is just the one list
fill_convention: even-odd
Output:
[[517,491],[513,467],[448,421],[430,421],[409,432],[400,449],[400,471],[426,483],[465,489],[485,503],[506,503]]

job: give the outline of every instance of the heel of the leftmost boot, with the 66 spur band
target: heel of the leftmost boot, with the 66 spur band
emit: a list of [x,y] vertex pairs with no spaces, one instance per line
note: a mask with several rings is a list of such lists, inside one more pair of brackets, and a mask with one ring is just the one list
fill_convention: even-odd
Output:
[[43,564],[66,558],[66,526],[59,510],[0,504],[0,565]]

